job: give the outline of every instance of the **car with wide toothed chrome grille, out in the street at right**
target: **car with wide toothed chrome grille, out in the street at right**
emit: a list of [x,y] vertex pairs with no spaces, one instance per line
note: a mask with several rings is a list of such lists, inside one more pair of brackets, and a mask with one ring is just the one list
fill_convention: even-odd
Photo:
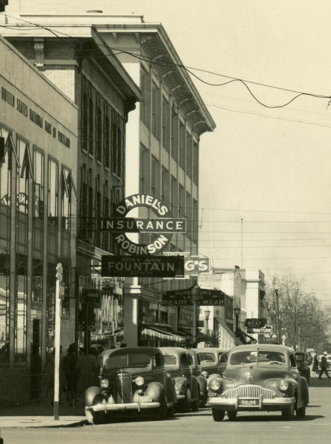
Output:
[[223,378],[209,384],[208,401],[214,421],[225,411],[235,420],[238,411],[277,411],[285,420],[306,414],[308,385],[296,365],[295,352],[283,345],[239,345],[229,351]]

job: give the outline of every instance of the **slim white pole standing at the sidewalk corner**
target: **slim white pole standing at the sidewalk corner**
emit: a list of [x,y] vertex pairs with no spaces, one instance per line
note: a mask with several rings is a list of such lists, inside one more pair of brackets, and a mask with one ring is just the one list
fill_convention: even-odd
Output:
[[[54,419],[59,420],[59,373],[60,373],[60,332],[61,332],[61,299],[64,297],[62,282],[63,268],[61,262],[56,266],[55,292],[55,333],[54,333]],[[63,294],[62,294],[63,293]]]

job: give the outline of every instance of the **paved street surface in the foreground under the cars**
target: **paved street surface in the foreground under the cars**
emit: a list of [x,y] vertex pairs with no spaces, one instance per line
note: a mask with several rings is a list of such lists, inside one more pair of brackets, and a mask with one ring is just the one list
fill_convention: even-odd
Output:
[[[315,436],[327,442],[331,428],[331,381],[325,376],[310,383],[310,405],[304,420],[283,421],[279,412],[239,413],[236,422],[213,421],[209,408],[176,414],[173,419],[118,418],[111,424],[62,428],[2,428],[4,444],[12,443],[311,443]],[[226,417],[227,418],[227,417]]]

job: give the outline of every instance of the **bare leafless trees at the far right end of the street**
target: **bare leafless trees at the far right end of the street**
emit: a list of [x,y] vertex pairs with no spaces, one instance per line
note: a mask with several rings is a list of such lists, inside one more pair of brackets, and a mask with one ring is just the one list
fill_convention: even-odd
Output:
[[320,306],[314,293],[304,290],[304,279],[292,273],[269,276],[266,283],[264,308],[268,321],[277,332],[276,289],[280,312],[280,336],[285,345],[304,350],[317,349],[331,341],[331,311]]

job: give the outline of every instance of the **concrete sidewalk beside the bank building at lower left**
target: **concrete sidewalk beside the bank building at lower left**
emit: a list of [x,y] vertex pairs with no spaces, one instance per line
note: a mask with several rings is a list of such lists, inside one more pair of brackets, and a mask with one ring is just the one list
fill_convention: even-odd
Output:
[[67,403],[59,406],[59,420],[54,419],[54,407],[49,402],[0,408],[0,428],[75,427],[85,424],[85,412],[80,402],[75,408]]

